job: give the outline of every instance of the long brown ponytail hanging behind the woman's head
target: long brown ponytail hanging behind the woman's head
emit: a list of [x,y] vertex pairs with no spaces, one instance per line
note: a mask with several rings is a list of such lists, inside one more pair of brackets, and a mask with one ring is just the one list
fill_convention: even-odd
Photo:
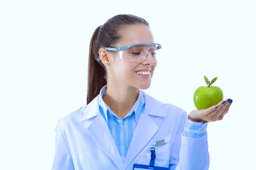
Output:
[[105,79],[106,70],[101,61],[98,61],[99,49],[97,37],[101,26],[96,28],[90,41],[88,61],[88,82],[87,82],[87,105],[98,96],[101,88],[107,84]]

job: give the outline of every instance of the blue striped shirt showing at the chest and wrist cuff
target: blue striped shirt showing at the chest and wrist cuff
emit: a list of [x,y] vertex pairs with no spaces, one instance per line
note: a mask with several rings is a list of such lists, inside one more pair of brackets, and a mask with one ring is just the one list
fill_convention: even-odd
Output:
[[[137,122],[140,115],[143,113],[145,107],[145,98],[141,91],[134,106],[128,114],[120,119],[116,116],[111,108],[103,101],[103,97],[107,92],[107,85],[105,85],[99,93],[99,110],[105,121],[108,124],[108,128],[111,132],[113,140],[119,151],[119,154],[124,161],[125,155],[131,143]],[[183,135],[191,138],[199,138],[206,134],[207,123],[192,122],[187,119]]]

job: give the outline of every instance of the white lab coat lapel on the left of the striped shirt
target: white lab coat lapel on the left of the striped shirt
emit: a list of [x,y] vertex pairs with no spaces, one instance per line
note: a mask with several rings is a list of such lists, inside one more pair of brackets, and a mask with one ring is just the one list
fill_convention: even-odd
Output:
[[[87,105],[87,109],[84,113],[83,121],[90,122],[87,124],[87,129],[100,145],[100,147],[108,154],[108,156],[113,160],[113,162],[119,167],[119,169],[124,170],[124,164],[122,158],[117,150],[116,144],[114,143],[113,137],[109,131],[108,125],[99,111],[99,95],[93,99]],[[95,119],[90,120],[94,116]],[[100,160],[99,160],[100,161]]]

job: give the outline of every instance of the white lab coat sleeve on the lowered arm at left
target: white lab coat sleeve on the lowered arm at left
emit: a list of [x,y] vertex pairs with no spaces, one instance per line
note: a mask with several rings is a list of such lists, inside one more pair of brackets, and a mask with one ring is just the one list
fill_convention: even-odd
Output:
[[61,133],[60,124],[55,127],[55,156],[53,159],[52,170],[74,170],[73,160],[67,143]]

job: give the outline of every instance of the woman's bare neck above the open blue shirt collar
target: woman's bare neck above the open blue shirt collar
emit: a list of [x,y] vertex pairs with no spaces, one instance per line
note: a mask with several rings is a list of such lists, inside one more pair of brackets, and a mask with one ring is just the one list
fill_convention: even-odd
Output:
[[138,88],[108,84],[103,101],[122,119],[134,106],[139,92],[140,90]]

